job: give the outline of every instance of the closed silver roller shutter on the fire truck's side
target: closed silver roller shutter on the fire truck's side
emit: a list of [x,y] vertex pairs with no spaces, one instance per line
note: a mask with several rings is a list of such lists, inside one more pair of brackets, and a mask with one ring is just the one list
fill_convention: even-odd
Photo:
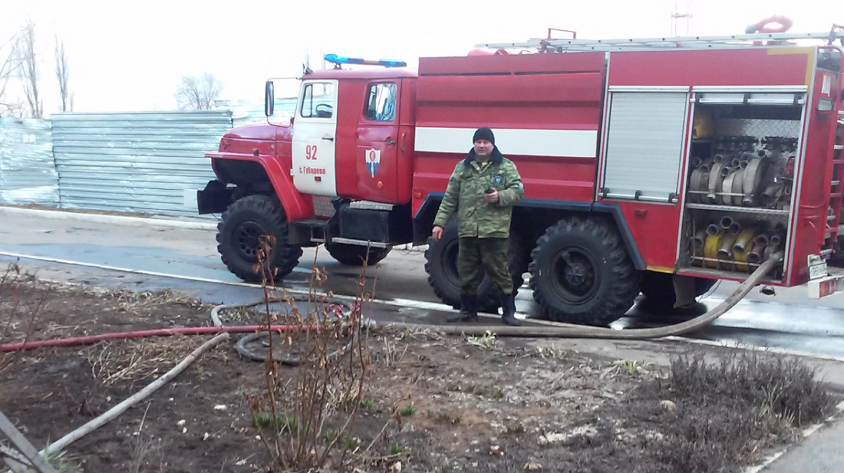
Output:
[[602,196],[677,202],[689,95],[614,92]]

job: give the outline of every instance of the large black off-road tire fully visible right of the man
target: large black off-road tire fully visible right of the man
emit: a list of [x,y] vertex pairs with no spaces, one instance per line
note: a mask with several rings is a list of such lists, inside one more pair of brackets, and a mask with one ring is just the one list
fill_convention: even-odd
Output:
[[639,274],[618,230],[598,218],[560,220],[531,257],[533,298],[553,320],[607,325],[639,294]]

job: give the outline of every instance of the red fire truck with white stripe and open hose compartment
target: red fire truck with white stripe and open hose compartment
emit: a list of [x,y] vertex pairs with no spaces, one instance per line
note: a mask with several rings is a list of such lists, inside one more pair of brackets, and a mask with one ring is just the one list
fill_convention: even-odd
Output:
[[[473,131],[490,126],[524,182],[512,277],[530,274],[550,318],[606,324],[639,293],[673,301],[676,276],[702,293],[775,252],[766,284],[824,296],[841,289],[826,261],[844,234],[842,37],[531,40],[422,58],[418,73],[328,56],[336,67],[306,71],[292,116],[268,81],[268,122],[208,153],[218,179],[199,212],[222,212],[219,252],[245,280],[262,234],[279,277],[302,247],[360,265],[427,243],[428,281],[457,306],[456,225],[436,243],[430,230]],[[480,293],[496,309],[488,282]]]

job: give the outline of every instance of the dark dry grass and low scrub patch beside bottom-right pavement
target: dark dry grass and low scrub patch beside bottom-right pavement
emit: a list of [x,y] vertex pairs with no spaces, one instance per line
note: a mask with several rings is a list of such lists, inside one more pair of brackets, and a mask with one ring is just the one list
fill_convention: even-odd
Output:
[[614,471],[604,462],[613,457],[631,472],[737,471],[798,438],[801,427],[823,421],[835,403],[799,360],[756,353],[712,363],[701,355],[677,357],[666,377],[569,426],[576,434],[561,443],[568,450],[562,465]]

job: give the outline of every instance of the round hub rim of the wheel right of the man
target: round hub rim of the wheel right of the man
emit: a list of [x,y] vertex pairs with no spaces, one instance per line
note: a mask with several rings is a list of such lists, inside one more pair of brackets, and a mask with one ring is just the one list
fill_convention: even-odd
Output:
[[592,255],[582,248],[566,248],[551,263],[551,287],[560,298],[582,304],[598,291],[601,274]]

